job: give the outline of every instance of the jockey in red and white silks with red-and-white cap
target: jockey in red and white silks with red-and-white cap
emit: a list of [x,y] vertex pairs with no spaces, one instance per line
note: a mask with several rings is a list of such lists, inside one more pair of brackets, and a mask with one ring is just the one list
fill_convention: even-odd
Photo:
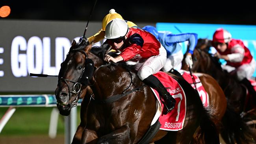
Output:
[[217,50],[215,56],[227,61],[226,65],[222,66],[223,69],[235,73],[236,78],[248,88],[250,94],[256,96],[248,80],[255,71],[256,62],[243,41],[232,39],[228,31],[219,28],[213,34],[212,45]]

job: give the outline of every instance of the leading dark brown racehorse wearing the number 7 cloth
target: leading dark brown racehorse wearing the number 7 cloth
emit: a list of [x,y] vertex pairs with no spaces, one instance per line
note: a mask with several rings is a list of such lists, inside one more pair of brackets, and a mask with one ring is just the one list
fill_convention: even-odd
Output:
[[[156,112],[156,98],[152,90],[125,63],[105,64],[102,55],[95,55],[93,51],[104,50],[104,45],[94,50],[91,47],[86,38],[80,39],[78,43],[72,42],[69,53],[61,64],[58,87],[55,90],[59,111],[68,114],[65,111],[70,111],[73,103],[76,103],[81,89],[90,84],[92,94],[86,92],[88,96],[83,98],[81,123],[72,143],[143,143],[140,139],[148,131]],[[147,143],[188,144],[198,126],[201,128],[202,141],[207,144],[219,143],[215,125],[202,106],[197,92],[184,79],[171,76],[186,94],[183,129],[160,130]],[[81,79],[86,82],[83,83]]]

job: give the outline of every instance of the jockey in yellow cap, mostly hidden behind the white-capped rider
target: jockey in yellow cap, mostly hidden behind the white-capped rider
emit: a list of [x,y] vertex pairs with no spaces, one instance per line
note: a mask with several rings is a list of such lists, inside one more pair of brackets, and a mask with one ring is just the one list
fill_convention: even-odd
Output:
[[[123,19],[121,15],[119,15],[118,13],[115,12],[115,9],[110,9],[109,14],[106,15],[102,20],[101,30],[98,33],[96,33],[95,35],[88,38],[89,43],[91,43],[91,42],[96,43],[96,42],[99,42],[100,40],[104,39],[106,25],[108,24],[109,21],[113,20],[114,18]],[[126,22],[129,26],[129,28],[138,27],[133,22],[130,22],[130,21],[126,21]]]

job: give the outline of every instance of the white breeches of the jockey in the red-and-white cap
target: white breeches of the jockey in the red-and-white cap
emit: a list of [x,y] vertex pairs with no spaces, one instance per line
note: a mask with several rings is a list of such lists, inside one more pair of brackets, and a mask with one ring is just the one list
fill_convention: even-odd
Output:
[[224,65],[222,66],[224,70],[227,70],[228,72],[235,72],[237,79],[239,81],[243,80],[244,78],[250,79],[255,71],[256,68],[256,62],[254,59],[249,64],[244,64],[239,66],[238,68],[234,68],[232,66]]

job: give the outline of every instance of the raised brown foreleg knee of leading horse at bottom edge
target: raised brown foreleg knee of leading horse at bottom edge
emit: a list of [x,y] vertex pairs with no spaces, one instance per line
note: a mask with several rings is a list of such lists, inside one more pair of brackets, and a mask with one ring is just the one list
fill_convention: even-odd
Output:
[[96,144],[98,135],[96,131],[91,129],[84,129],[82,135],[82,144]]

